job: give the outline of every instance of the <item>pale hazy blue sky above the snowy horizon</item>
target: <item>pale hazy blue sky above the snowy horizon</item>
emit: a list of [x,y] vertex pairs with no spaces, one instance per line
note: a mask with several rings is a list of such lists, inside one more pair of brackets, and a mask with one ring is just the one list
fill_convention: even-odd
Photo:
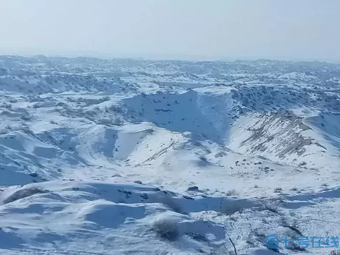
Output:
[[0,55],[340,61],[339,0],[0,0]]

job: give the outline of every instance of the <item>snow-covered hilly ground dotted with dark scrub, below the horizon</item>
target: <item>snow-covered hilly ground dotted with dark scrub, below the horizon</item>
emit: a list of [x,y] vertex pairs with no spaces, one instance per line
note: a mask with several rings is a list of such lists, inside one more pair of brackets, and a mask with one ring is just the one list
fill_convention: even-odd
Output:
[[340,236],[340,65],[0,56],[0,91],[1,254]]

